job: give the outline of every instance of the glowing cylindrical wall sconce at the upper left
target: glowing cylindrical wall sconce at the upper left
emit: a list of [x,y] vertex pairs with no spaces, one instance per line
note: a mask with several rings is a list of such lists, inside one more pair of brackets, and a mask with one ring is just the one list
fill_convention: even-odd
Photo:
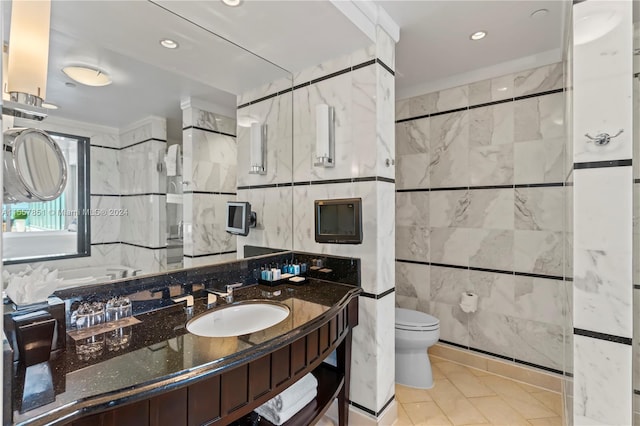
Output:
[[13,0],[7,91],[11,100],[40,107],[47,94],[50,0]]

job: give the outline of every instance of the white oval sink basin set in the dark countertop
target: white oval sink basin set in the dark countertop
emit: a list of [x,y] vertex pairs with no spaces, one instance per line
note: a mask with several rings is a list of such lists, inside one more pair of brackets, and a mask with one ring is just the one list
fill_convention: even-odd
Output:
[[276,325],[288,316],[289,307],[279,303],[238,303],[192,319],[187,330],[202,337],[242,336]]

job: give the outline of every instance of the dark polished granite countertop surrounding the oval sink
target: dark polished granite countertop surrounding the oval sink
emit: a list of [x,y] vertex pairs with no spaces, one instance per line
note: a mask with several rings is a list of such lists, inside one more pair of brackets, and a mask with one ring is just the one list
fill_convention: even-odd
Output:
[[[269,297],[277,290],[281,290],[279,296]],[[185,328],[191,317],[187,316],[183,304],[170,306],[136,315],[141,322],[123,329],[125,335],[130,334],[127,347],[112,351],[105,347],[90,360],[80,359],[74,340],[67,337],[66,350],[48,363],[51,387],[55,390],[55,395],[50,392],[48,397],[53,400],[55,396],[55,400],[24,413],[15,409],[13,420],[25,425],[65,423],[78,417],[80,411],[83,414],[102,411],[218,374],[222,369],[260,357],[306,334],[359,292],[358,287],[319,280],[308,280],[302,286],[255,285],[236,290],[235,302],[266,299],[285,304],[291,310],[284,321],[239,337],[191,334]],[[193,317],[207,311],[206,293],[196,292],[194,296]],[[219,303],[211,309],[224,305]],[[46,372],[39,374],[47,376]],[[15,408],[19,407],[20,395],[33,386],[25,383],[33,379],[25,378],[24,369],[14,369],[14,379],[18,390]]]

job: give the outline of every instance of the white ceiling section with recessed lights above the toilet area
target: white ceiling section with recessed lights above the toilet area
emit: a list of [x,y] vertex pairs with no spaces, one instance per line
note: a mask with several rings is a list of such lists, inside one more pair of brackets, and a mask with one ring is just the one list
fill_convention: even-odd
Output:
[[[561,60],[563,17],[571,2],[378,0],[376,4],[400,26],[396,97],[404,98],[468,83],[474,71],[488,67],[492,76],[498,76],[536,62]],[[549,13],[531,18],[538,9]],[[469,35],[479,30],[487,37],[471,41]]]

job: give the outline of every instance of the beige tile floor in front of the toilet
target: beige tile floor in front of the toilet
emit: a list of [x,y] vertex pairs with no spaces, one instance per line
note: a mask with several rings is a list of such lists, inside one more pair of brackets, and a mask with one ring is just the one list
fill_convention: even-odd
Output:
[[435,385],[396,385],[398,420],[409,425],[561,426],[562,396],[430,356]]

